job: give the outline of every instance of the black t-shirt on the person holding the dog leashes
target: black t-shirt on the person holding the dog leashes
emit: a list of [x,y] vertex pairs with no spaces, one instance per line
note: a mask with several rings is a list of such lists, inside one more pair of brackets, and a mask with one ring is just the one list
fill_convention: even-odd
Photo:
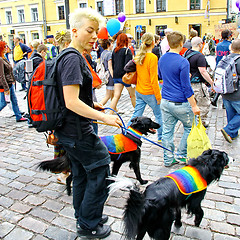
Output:
[[[59,94],[64,104],[62,87],[66,85],[80,85],[79,99],[88,106],[93,106],[92,75],[85,59],[80,54],[68,53],[62,57],[58,63],[57,82],[61,86]],[[69,109],[67,109],[63,126],[57,132],[59,131],[68,137],[78,137],[78,123],[80,123],[83,135],[93,132],[91,119],[82,117]]]

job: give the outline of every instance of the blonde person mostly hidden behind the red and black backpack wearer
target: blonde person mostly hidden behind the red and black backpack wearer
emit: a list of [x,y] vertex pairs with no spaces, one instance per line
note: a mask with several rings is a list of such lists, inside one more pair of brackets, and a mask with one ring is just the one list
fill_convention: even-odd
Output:
[[[71,43],[71,32],[68,30],[62,30],[56,32],[55,40],[57,45],[59,46],[59,51],[61,52],[63,49],[67,48]],[[63,156],[66,152],[64,151],[61,145],[54,146],[54,158]],[[57,178],[57,182],[60,184],[66,184],[66,179],[69,176],[69,172],[62,172],[59,174]]]

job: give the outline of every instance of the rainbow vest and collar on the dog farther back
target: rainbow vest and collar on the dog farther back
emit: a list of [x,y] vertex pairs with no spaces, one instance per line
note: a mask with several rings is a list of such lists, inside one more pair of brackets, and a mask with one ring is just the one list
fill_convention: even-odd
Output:
[[[127,133],[138,139],[140,139],[142,136],[140,132],[131,127],[128,127]],[[100,138],[108,148],[109,153],[111,154],[121,154],[137,150],[137,144],[123,134],[103,136]]]

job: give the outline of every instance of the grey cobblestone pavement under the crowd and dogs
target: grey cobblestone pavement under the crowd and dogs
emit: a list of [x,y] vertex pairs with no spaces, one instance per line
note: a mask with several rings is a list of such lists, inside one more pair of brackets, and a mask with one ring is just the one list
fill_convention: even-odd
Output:
[[[105,87],[97,90],[101,99]],[[16,92],[21,110],[26,111],[24,94]],[[127,91],[124,90],[118,108],[127,123],[133,108]],[[28,128],[27,123],[16,123],[8,107],[0,112],[0,239],[4,240],[73,240],[76,235],[72,196],[67,196],[65,186],[57,183],[57,175],[41,172],[36,164],[53,158],[53,148],[45,143],[42,133]],[[152,117],[149,108],[146,116]],[[221,99],[218,108],[210,109],[210,126],[207,133],[213,148],[226,151],[237,161],[224,173],[219,182],[212,184],[203,201],[204,218],[199,228],[193,218],[183,215],[183,226],[172,229],[172,240],[236,240],[240,239],[240,138],[227,143],[220,129],[226,124],[225,110]],[[153,118],[154,119],[154,118]],[[119,133],[117,128],[99,125],[99,135]],[[179,141],[182,127],[176,128],[175,138]],[[149,136],[156,140],[157,136]],[[170,171],[163,166],[163,150],[143,141],[141,172],[144,179],[154,181]],[[135,178],[126,163],[121,167],[121,176]],[[144,189],[144,187],[143,187]],[[106,240],[121,239],[123,207],[127,193],[116,192],[109,197],[104,212],[109,216],[111,235]],[[148,236],[145,239],[149,239]]]

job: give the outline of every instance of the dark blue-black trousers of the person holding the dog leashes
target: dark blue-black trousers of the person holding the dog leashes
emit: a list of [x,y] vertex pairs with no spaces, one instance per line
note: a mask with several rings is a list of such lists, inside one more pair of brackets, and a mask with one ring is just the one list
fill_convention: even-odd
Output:
[[71,161],[75,218],[82,228],[95,229],[108,197],[110,155],[107,147],[95,133],[83,135],[82,139],[69,138],[59,130],[55,134]]

